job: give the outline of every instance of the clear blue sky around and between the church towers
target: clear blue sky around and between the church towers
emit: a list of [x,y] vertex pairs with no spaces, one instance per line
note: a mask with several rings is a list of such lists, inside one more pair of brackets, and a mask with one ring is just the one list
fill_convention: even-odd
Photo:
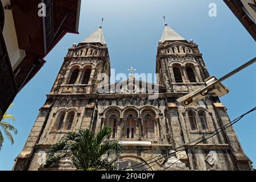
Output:
[[[217,17],[211,18],[208,6],[212,2],[217,4]],[[221,0],[82,1],[80,35],[66,35],[46,57],[44,67],[14,100],[10,113],[16,117],[14,125],[19,133],[13,146],[7,140],[3,144],[0,170],[13,167],[72,43],[81,42],[96,30],[104,16],[103,31],[112,69],[116,73],[128,73],[127,69],[133,66],[138,73],[155,73],[156,47],[164,28],[163,15],[176,32],[199,44],[210,75],[221,77],[255,57],[255,41]],[[224,81],[230,93],[221,101],[228,107],[231,119],[255,106],[255,82],[255,64]],[[234,128],[245,154],[256,165],[255,119],[256,113],[251,113]]]

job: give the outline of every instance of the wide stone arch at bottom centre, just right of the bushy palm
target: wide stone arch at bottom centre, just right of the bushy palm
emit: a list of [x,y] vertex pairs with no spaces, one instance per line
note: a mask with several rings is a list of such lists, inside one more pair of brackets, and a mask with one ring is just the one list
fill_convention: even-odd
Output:
[[[114,161],[113,161],[114,162]],[[139,166],[138,164],[145,164],[144,166]],[[121,163],[119,164],[120,169],[128,169],[130,167],[133,167],[137,165],[138,168],[136,168],[136,171],[153,171],[152,167],[147,164],[146,160],[138,157],[138,156],[133,156],[133,155],[125,155],[121,156]]]

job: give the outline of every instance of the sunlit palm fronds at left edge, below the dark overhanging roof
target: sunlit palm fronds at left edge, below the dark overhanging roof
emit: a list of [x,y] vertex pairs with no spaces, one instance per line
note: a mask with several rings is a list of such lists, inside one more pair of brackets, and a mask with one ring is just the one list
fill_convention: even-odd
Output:
[[[11,108],[11,106],[13,106],[13,104],[9,106],[9,109]],[[9,122],[7,122],[8,119],[11,119],[13,121],[16,120],[13,115],[7,114],[8,110],[3,115],[2,121],[0,121],[0,150],[2,148],[3,141],[5,140],[5,137],[3,134],[5,134],[7,139],[10,140],[11,144],[14,144],[14,138],[13,138],[12,132],[14,134],[18,133],[18,130],[13,125],[11,125]]]

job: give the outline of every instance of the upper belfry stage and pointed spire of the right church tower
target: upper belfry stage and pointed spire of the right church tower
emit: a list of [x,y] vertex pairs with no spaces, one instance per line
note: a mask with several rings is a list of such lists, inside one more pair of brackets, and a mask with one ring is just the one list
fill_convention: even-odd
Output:
[[158,43],[156,73],[167,92],[191,92],[204,86],[209,77],[197,44],[185,40],[167,23]]

